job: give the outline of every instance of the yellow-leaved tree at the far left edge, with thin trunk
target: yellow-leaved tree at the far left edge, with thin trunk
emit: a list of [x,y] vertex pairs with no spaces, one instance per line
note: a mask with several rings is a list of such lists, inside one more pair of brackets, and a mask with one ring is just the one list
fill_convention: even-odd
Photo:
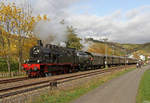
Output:
[[13,32],[13,16],[12,8],[10,5],[5,5],[3,2],[0,4],[0,26],[1,26],[1,42],[3,40],[3,51],[4,57],[6,58],[8,71],[10,72],[10,57],[11,57],[11,42],[10,42],[10,33]]

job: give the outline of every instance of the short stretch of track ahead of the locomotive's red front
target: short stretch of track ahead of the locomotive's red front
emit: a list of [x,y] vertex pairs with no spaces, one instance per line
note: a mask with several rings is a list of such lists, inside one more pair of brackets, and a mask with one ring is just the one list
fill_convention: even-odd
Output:
[[29,79],[28,77],[13,78],[13,79],[4,79],[4,80],[0,80],[0,84],[18,82],[18,81],[28,80],[28,79]]

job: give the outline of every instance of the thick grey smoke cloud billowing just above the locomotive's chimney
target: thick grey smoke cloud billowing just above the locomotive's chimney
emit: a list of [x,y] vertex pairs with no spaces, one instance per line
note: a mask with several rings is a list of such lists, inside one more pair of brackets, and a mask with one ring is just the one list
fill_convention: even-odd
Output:
[[45,43],[60,45],[67,41],[67,28],[57,20],[38,22],[34,34]]

